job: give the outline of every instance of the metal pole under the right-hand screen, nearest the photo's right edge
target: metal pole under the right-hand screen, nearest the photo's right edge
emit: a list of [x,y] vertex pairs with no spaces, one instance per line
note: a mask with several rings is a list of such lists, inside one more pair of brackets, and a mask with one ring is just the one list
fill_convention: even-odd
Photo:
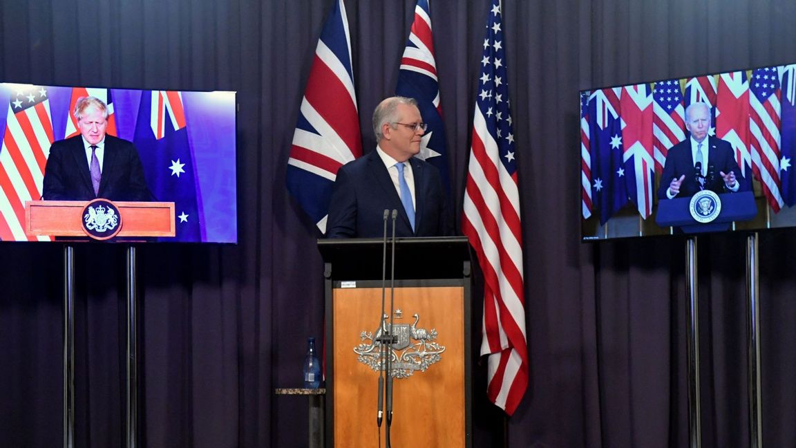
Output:
[[747,357],[749,381],[749,446],[763,446],[760,392],[760,285],[757,232],[747,237]]

